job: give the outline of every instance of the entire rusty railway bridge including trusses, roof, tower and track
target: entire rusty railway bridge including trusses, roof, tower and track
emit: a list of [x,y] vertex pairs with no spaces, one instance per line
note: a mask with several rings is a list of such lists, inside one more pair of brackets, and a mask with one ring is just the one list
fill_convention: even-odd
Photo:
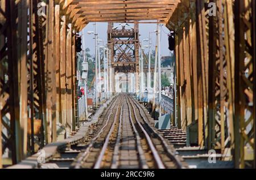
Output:
[[[108,23],[108,44],[101,59],[91,32],[90,111],[77,94],[93,22]],[[155,68],[139,38],[146,23],[158,27]],[[0,130],[0,168],[255,168],[255,1],[0,0]]]

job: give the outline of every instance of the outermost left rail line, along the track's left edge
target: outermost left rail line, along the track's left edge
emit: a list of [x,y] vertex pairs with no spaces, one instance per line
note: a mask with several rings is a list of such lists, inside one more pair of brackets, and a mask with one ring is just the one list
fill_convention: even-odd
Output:
[[104,127],[101,128],[100,132],[98,132],[98,134],[91,140],[91,143],[88,145],[88,147],[86,148],[85,152],[82,153],[82,155],[77,159],[77,163],[75,165],[75,169],[79,169],[80,166],[82,165],[82,161],[86,157],[89,156],[90,149],[93,147],[94,142],[100,137],[100,135],[102,134],[102,132],[105,130],[106,126],[108,125],[108,122],[109,122],[109,119],[110,119],[110,115],[112,115],[112,112],[113,112],[113,109],[114,109],[114,106],[115,106],[114,102],[117,102],[117,101],[118,101],[118,98],[112,102],[112,105],[110,107],[110,113],[108,115],[108,119],[107,119]]

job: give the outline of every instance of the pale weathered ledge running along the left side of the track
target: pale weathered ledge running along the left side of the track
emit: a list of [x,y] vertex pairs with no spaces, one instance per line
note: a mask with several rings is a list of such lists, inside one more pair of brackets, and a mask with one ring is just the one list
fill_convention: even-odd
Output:
[[[59,151],[70,147],[71,145],[75,145],[80,143],[86,136],[86,132],[89,129],[89,126],[91,126],[93,123],[96,123],[98,121],[98,118],[103,113],[104,109],[110,104],[110,102],[113,100],[114,97],[112,97],[110,100],[105,102],[96,112],[96,114],[90,119],[90,121],[83,123],[83,125],[80,127],[80,130],[73,136],[64,139],[60,142],[55,142],[51,144],[47,144],[41,151],[45,155],[45,160],[48,162],[51,158],[53,158]],[[43,156],[44,156],[43,155]],[[35,155],[32,155],[30,157],[27,157],[25,160],[22,160],[16,165],[10,166],[7,169],[36,169],[39,168],[40,164],[39,158],[42,157],[41,153],[36,153]]]

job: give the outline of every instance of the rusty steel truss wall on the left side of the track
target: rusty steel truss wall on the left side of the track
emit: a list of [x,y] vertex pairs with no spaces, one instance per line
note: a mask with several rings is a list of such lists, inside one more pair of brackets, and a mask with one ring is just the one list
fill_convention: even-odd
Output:
[[64,1],[0,1],[0,168],[66,135],[76,121],[76,25]]

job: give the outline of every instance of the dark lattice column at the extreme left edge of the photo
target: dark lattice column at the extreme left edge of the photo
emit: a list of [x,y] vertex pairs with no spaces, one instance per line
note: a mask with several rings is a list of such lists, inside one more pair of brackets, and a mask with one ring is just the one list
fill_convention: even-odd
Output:
[[[1,1],[0,37],[6,41],[0,42],[0,121],[2,124],[0,140],[2,141],[2,153],[9,149],[13,164],[20,160],[20,154],[16,152],[22,151],[21,148],[18,148],[20,147],[19,142],[15,143],[15,136],[20,135],[18,133],[19,128],[15,128],[19,127],[19,92],[16,88],[18,84],[18,58],[16,54],[17,13],[14,12],[15,8],[15,1]],[[16,151],[17,148],[18,151]]]

